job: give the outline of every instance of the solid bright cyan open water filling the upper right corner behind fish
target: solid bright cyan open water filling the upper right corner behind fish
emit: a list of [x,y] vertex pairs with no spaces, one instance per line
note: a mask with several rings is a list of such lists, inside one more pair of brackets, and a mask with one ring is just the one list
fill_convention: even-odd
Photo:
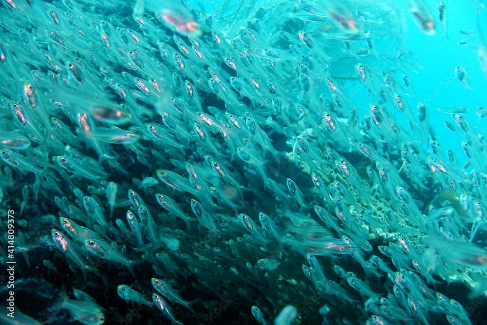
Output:
[[[405,3],[406,1],[401,1]],[[448,113],[438,111],[437,107],[465,106],[470,111],[465,114],[471,126],[476,128],[477,134],[487,134],[487,119],[479,118],[475,112],[477,106],[487,105],[487,75],[482,70],[478,58],[480,36],[467,45],[458,45],[457,41],[466,38],[460,30],[477,31],[476,8],[470,1],[444,1],[447,8],[447,36],[443,38],[441,26],[436,26],[434,36],[421,32],[413,21],[412,15],[406,15],[407,35],[405,45],[414,49],[418,54],[419,63],[423,66],[417,74],[409,74],[414,85],[417,100],[423,101],[429,108],[431,126],[438,135],[443,152],[447,148],[453,150],[460,164],[468,160],[461,148],[464,136],[448,130],[444,122],[454,123]],[[437,19],[438,1],[428,1],[435,21]],[[481,17],[485,18],[485,17]],[[484,20],[485,21],[485,20]],[[485,21],[487,22],[487,21]],[[484,22],[484,24],[485,24]],[[464,85],[455,76],[455,66],[461,65],[470,76],[473,89],[466,91]],[[416,106],[417,101],[409,100]],[[454,123],[456,124],[456,123]]]

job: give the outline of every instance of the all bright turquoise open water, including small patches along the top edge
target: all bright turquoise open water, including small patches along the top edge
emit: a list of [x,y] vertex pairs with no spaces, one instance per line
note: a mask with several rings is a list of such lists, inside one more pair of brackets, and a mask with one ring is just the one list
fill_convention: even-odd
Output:
[[[248,1],[250,3],[262,2],[262,6],[272,5],[272,1]],[[319,3],[319,1],[314,1]],[[364,11],[367,10],[367,1],[364,2]],[[417,72],[408,71],[408,67],[394,66],[389,63],[381,67],[386,71],[398,69],[394,77],[402,84],[401,75],[403,71],[412,81],[413,89],[416,96],[404,96],[413,113],[416,115],[416,106],[419,101],[423,102],[430,114],[430,124],[434,129],[440,146],[446,156],[446,150],[450,148],[455,153],[459,163],[463,165],[468,161],[461,148],[461,142],[465,141],[465,136],[455,134],[446,128],[445,121],[450,121],[456,125],[451,114],[442,112],[437,109],[447,108],[450,106],[468,107],[469,112],[465,114],[468,123],[476,129],[477,134],[487,134],[487,118],[479,118],[475,112],[477,106],[487,105],[487,74],[483,71],[478,58],[478,48],[482,42],[478,33],[477,25],[477,7],[468,0],[444,1],[447,11],[447,37],[444,38],[443,30],[438,18],[438,1],[426,0],[431,14],[436,23],[436,33],[427,35],[423,33],[420,27],[413,19],[413,15],[408,10],[408,1],[397,1],[396,9],[400,10],[400,16],[405,24],[402,34],[391,34],[387,41],[393,41],[394,38],[401,38],[403,43],[398,45],[397,53],[387,53],[387,55],[397,55],[402,48],[412,51],[415,63],[418,67]],[[195,8],[204,9],[211,13],[214,8],[221,5],[221,1],[187,1]],[[235,8],[238,1],[230,1],[229,8]],[[484,10],[485,11],[485,10]],[[480,17],[481,22],[487,23],[487,15]],[[279,21],[276,18],[276,21]],[[487,32],[487,28],[480,24],[481,28]],[[458,45],[457,42],[467,36],[460,34],[460,30],[470,30],[476,33],[476,38],[467,45]],[[486,33],[484,33],[486,34]],[[487,38],[487,35],[485,36]],[[486,44],[484,38],[484,44]],[[374,40],[380,44],[380,39]],[[484,45],[486,46],[486,45]],[[379,48],[380,51],[380,48]],[[383,53],[379,53],[382,55]],[[357,61],[360,61],[357,58]],[[379,59],[380,61],[380,59]],[[455,67],[460,65],[465,68],[469,77],[472,89],[466,90],[465,86],[458,80],[455,75]],[[380,71],[376,71],[380,74]],[[355,71],[350,71],[353,76]],[[353,86],[352,86],[353,85]],[[356,87],[356,82],[347,83],[346,86]],[[347,88],[345,88],[347,92]],[[370,103],[374,100],[365,89],[356,93],[352,99],[353,104],[357,107],[359,116],[367,114]],[[375,98],[376,99],[376,98]],[[397,112],[396,112],[397,113]],[[404,127],[408,128],[408,123],[400,114],[394,114],[398,122],[402,122]],[[417,116],[417,115],[416,115]]]

